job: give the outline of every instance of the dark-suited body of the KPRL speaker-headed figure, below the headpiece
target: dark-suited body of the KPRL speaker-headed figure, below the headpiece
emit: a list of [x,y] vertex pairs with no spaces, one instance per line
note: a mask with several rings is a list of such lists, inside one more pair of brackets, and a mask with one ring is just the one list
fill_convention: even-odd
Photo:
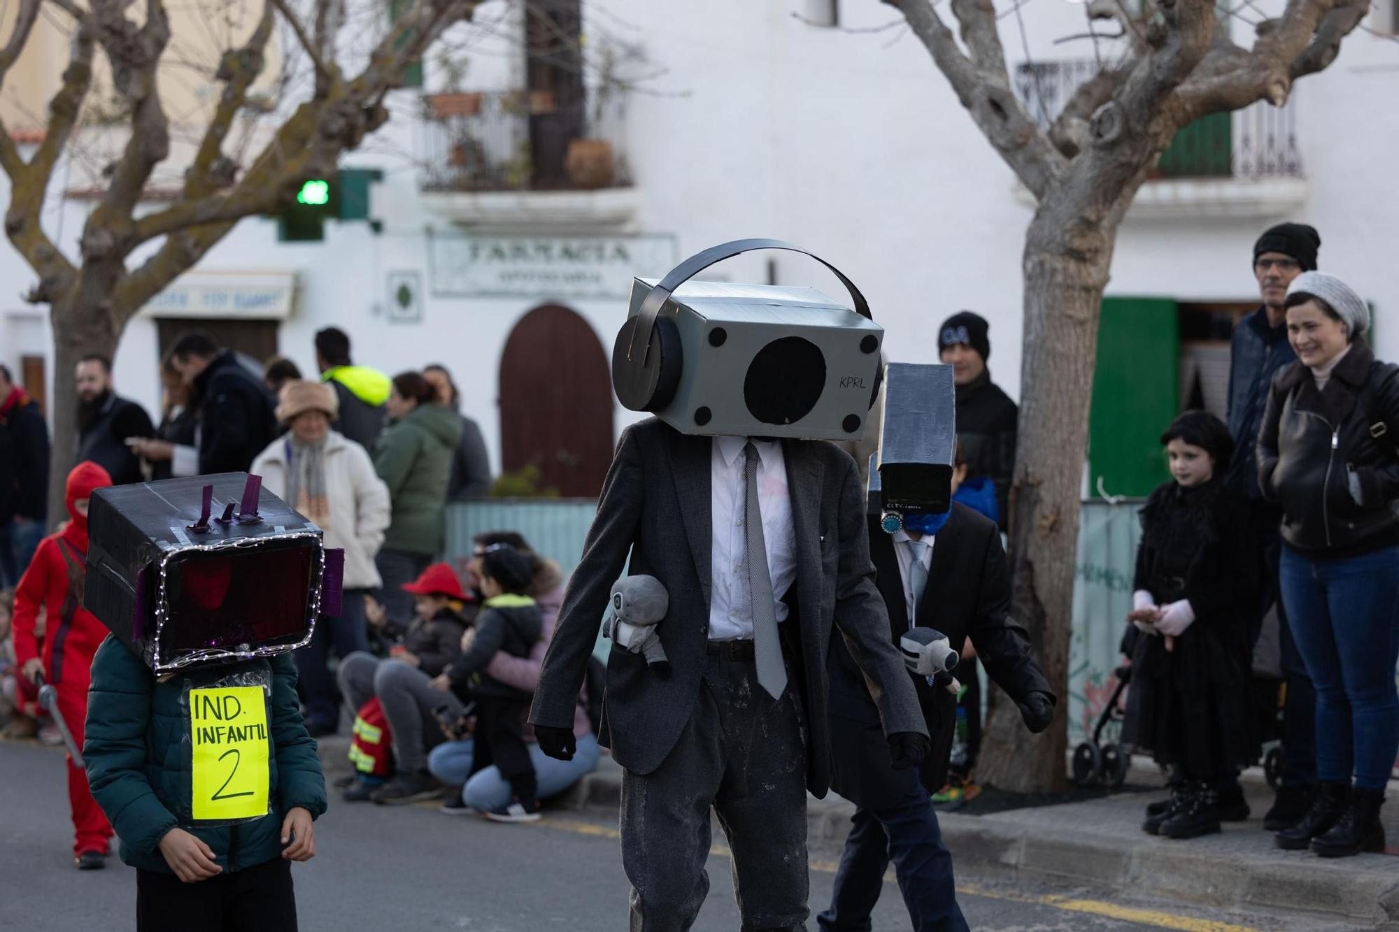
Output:
[[[746,558],[754,539],[765,560]],[[733,851],[743,928],[806,928],[806,792],[830,784],[832,630],[877,697],[879,754],[915,767],[928,747],[874,588],[855,460],[828,442],[691,437],[656,418],[623,431],[530,711],[551,757],[572,753],[578,689],[628,554],[630,572],[655,577],[670,599],[658,627],[669,677],[618,647],[607,663],[599,740],[624,768],[631,928],[694,922],[709,890],[711,807]]]

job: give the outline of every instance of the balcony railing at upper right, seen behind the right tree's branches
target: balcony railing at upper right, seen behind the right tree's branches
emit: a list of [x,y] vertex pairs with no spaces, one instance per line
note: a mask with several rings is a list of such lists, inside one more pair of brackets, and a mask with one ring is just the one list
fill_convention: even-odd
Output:
[[[1016,94],[1041,126],[1052,123],[1073,92],[1097,74],[1091,60],[1035,62],[1016,69]],[[1234,113],[1212,113],[1177,132],[1156,178],[1302,178],[1297,112],[1265,101]]]

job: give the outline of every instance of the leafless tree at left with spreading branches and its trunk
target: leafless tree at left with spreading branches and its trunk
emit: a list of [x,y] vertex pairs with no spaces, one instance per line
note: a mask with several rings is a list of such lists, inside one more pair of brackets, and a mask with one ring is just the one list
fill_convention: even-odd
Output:
[[[333,172],[341,153],[357,148],[389,119],[385,98],[402,85],[406,67],[455,24],[469,21],[478,4],[403,0],[395,4],[392,25],[382,0],[360,15],[347,6],[346,0],[214,3],[210,8],[217,14],[235,8],[252,8],[252,14],[236,39],[228,20],[192,21],[201,27],[192,31],[203,34],[206,46],[218,32],[229,39],[215,42],[206,76],[190,50],[201,36],[172,35],[164,0],[18,0],[14,31],[0,49],[0,91],[41,14],[62,22],[71,38],[42,141],[25,153],[11,129],[0,126],[0,168],[11,186],[6,234],[38,276],[28,299],[50,308],[56,365],[52,484],[60,502],[62,477],[73,456],[70,374],[76,361],[88,353],[112,355],[132,315],[241,218],[277,214],[305,181]],[[367,25],[371,18],[376,29]],[[291,48],[278,56],[281,74],[269,99],[255,92],[255,84],[264,77],[269,42],[278,28]],[[290,64],[298,60],[309,66],[304,80]],[[158,76],[172,67],[192,70],[218,92],[207,122],[187,141],[178,136],[186,127],[161,101]],[[111,99],[102,99],[98,88],[105,76]],[[269,113],[276,126],[260,134],[259,151],[245,157],[246,146],[234,144],[235,126],[246,127]],[[55,188],[66,186],[55,176],[66,158],[91,160],[83,137],[94,133],[108,143],[118,139],[119,146],[99,165],[101,182],[91,192],[95,206],[77,255],[67,256],[43,228],[45,202]],[[182,143],[190,150],[183,178],[162,192],[164,204],[154,204],[157,168],[171,158],[172,144]]]

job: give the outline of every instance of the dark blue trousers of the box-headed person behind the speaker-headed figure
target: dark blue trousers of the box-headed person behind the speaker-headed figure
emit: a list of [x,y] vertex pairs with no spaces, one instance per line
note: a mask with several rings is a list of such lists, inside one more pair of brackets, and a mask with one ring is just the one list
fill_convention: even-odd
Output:
[[953,855],[943,844],[937,813],[922,785],[897,806],[855,810],[835,872],[831,908],[816,918],[817,925],[825,932],[869,932],[890,861],[915,931],[967,931],[957,905]]

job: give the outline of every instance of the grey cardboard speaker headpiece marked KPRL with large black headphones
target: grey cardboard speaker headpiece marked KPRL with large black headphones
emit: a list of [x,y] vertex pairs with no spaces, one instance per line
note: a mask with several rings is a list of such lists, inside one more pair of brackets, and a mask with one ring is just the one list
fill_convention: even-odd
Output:
[[613,347],[613,388],[624,406],[651,411],[681,434],[852,439],[879,393],[880,344],[855,284],[855,309],[814,288],[690,281],[779,239],[739,239],[701,252],[659,281],[637,278]]

